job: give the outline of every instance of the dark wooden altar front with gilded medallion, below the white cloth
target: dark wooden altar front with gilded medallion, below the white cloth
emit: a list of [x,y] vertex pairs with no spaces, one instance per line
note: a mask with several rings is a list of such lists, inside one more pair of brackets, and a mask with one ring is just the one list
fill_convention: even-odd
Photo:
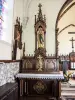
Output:
[[[59,96],[59,82],[57,80],[26,80],[27,92],[25,95]],[[25,86],[25,84],[24,84]],[[25,88],[25,87],[24,87]]]

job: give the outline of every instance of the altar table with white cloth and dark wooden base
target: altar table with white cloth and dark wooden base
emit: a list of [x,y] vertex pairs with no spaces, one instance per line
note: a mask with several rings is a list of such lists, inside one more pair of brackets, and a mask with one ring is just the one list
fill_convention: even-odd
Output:
[[15,76],[20,82],[20,96],[48,96],[60,98],[61,83],[64,79],[60,72],[18,73]]

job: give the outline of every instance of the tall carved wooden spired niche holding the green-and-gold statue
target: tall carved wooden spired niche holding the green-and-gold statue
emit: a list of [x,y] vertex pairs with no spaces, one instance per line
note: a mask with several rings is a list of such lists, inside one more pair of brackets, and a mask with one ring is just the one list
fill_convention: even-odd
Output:
[[46,18],[42,15],[41,7],[39,4],[38,16],[35,15],[35,55],[41,54],[46,56]]

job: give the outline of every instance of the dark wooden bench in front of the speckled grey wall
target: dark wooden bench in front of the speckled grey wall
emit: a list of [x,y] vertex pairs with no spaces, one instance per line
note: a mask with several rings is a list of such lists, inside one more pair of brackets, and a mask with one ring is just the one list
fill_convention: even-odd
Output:
[[18,84],[7,83],[0,86],[0,100],[18,100]]

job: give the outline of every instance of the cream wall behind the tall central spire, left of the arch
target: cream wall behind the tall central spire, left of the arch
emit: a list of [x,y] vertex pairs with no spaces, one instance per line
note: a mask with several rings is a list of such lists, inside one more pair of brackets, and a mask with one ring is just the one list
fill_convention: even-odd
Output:
[[[26,1],[26,0],[25,0]],[[38,4],[42,4],[42,13],[46,15],[46,50],[47,54],[55,54],[55,23],[58,12],[66,0],[28,0],[29,3],[24,5],[28,13],[23,14],[27,19],[27,23],[23,26],[23,42],[26,46],[26,54],[34,54],[35,51],[35,33],[34,33],[34,17],[38,13]],[[24,11],[24,12],[25,12]],[[23,24],[24,25],[24,24]]]

